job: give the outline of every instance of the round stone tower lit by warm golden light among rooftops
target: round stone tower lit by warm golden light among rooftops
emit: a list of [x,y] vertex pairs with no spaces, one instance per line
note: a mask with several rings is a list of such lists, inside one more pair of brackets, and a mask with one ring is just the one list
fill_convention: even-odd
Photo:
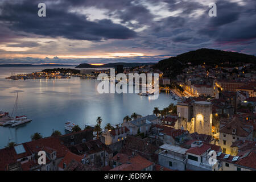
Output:
[[199,134],[212,134],[212,103],[200,101],[193,104],[192,121],[194,124],[194,132]]

